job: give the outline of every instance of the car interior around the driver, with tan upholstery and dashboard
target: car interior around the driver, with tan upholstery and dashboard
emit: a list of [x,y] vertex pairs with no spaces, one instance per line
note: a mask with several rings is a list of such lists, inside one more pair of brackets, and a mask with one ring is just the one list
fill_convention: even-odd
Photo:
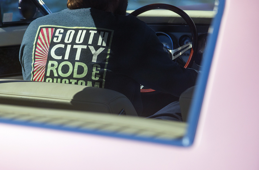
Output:
[[[1,1],[1,119],[30,125],[50,125],[57,129],[76,128],[88,133],[94,130],[97,134],[108,133],[126,138],[177,140],[184,136],[195,86],[187,89],[180,98],[141,86],[144,111],[142,115],[137,115],[129,99],[113,90],[23,80],[18,58],[23,34],[32,20],[51,13],[51,10],[41,0],[16,0],[18,7],[12,8],[12,4],[9,7],[20,14],[14,21],[10,18],[15,12],[5,12],[4,5]],[[213,30],[211,23],[217,13],[216,5],[198,10],[196,6],[178,8],[155,4],[128,10],[127,14],[146,22],[157,33],[174,61],[183,67],[200,71],[207,37]],[[180,102],[183,122],[144,119],[177,100]]]

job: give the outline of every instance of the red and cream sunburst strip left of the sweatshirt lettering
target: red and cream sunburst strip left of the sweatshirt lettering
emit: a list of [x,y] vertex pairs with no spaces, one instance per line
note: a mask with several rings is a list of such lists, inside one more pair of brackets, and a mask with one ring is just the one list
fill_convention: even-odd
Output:
[[41,28],[39,33],[36,50],[35,63],[33,69],[33,81],[42,82],[49,53],[49,44],[55,28]]

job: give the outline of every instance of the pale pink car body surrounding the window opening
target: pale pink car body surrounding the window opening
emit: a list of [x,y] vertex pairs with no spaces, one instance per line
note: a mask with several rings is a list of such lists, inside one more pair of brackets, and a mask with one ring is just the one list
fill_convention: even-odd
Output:
[[191,144],[188,138],[182,140],[187,146],[176,146],[0,123],[0,169],[259,169],[259,2],[220,3]]

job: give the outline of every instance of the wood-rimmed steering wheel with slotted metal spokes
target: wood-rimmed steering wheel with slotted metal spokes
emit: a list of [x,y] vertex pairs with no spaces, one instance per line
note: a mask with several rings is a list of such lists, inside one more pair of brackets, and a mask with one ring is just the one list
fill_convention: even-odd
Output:
[[[195,60],[195,57],[196,57],[197,51],[198,51],[198,45],[197,45],[198,44],[198,32],[197,32],[197,29],[196,29],[196,26],[195,26],[193,20],[182,9],[180,9],[176,6],[173,6],[173,5],[168,5],[168,4],[163,4],[163,3],[156,3],[156,4],[151,4],[151,5],[146,5],[146,6],[140,7],[138,9],[136,9],[135,11],[133,11],[132,13],[130,13],[129,15],[133,15],[136,17],[139,14],[152,10],[152,9],[167,9],[167,10],[173,11],[173,12],[177,13],[178,15],[180,15],[187,22],[188,26],[191,29],[191,33],[192,33],[192,43],[185,44],[174,50],[169,50],[169,49],[167,49],[167,50],[172,54],[173,59],[176,59],[177,57],[182,55],[182,53],[186,52],[188,49],[191,48],[190,56],[184,66],[184,68],[190,68],[193,65],[193,62]],[[182,50],[182,49],[184,49],[184,50]],[[181,52],[179,53],[179,51],[181,51]],[[175,55],[175,53],[178,53],[178,54]],[[141,92],[152,92],[155,90],[140,89],[140,91]]]

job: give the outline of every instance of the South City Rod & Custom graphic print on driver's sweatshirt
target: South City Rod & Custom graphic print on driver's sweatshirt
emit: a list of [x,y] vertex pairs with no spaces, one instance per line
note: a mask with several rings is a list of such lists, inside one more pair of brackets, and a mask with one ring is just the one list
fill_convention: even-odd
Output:
[[104,88],[113,30],[39,26],[33,48],[33,81]]

